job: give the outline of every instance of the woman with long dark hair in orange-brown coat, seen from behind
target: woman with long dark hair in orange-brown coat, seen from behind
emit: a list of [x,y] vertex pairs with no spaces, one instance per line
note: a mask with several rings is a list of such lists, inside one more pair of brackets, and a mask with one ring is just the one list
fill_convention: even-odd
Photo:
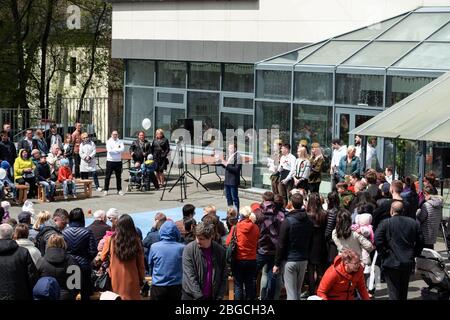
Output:
[[102,261],[109,259],[112,291],[122,300],[140,300],[140,288],[145,276],[142,242],[128,214],[119,217],[115,231],[106,240],[102,251]]

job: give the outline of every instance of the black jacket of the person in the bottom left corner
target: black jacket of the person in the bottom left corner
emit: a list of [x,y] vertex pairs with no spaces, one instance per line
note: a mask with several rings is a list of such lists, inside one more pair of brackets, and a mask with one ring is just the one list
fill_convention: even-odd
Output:
[[37,271],[27,249],[0,240],[0,300],[31,300]]

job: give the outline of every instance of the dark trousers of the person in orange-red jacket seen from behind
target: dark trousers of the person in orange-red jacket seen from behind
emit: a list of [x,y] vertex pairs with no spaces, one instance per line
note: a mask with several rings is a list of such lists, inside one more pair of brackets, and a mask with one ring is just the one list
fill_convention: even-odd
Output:
[[234,276],[234,300],[255,300],[256,260],[236,260],[231,269]]

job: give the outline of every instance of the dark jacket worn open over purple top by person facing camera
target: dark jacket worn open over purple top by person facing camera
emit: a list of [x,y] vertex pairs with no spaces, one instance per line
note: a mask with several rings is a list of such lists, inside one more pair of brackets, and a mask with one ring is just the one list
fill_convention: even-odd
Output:
[[[213,300],[222,300],[226,290],[227,272],[225,269],[225,249],[215,241],[212,246]],[[206,259],[196,241],[183,250],[182,300],[203,299],[202,288],[207,271]]]

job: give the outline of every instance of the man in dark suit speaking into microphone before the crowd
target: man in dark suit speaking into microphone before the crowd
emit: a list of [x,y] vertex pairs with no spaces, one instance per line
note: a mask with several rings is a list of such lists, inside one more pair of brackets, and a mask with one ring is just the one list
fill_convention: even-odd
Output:
[[239,182],[242,170],[242,157],[237,152],[237,146],[233,143],[228,145],[228,159],[222,160],[221,166],[225,168],[225,194],[227,205],[234,206],[239,212]]

